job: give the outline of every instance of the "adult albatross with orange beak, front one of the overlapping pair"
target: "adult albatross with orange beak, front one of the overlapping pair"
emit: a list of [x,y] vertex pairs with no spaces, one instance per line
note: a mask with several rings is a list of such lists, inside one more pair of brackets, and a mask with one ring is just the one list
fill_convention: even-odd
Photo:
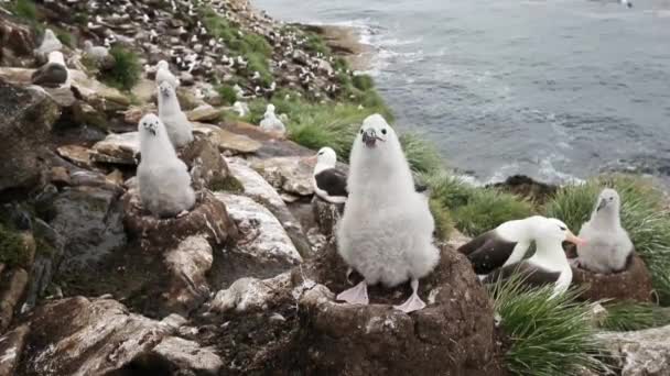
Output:
[[563,251],[563,242],[583,244],[558,219],[549,218],[536,229],[536,253],[528,259],[496,269],[484,278],[484,283],[507,279],[521,275],[523,283],[532,286],[554,285],[553,296],[564,292],[572,281],[572,268]]

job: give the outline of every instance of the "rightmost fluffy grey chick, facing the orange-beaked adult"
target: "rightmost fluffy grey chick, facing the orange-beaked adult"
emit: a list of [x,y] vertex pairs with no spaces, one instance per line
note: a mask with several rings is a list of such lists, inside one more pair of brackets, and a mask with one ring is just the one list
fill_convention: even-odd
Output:
[[580,230],[580,237],[586,241],[585,245],[577,247],[580,266],[603,274],[626,267],[633,253],[633,242],[622,228],[619,210],[619,195],[614,189],[604,189],[591,219]]

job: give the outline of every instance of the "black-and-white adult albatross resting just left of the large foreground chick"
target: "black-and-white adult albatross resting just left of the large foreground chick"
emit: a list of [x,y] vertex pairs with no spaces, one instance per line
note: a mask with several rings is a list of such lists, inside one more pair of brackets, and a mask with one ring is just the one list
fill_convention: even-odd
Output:
[[316,165],[312,174],[312,187],[321,199],[331,203],[343,203],[347,200],[347,176],[338,170],[337,154],[331,147],[322,147],[316,153]]

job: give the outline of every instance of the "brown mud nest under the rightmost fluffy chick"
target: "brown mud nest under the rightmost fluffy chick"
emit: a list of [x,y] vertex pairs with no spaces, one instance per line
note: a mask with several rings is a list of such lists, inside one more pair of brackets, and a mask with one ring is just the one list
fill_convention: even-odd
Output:
[[634,254],[626,270],[599,274],[580,267],[572,267],[572,283],[587,286],[582,298],[592,301],[601,299],[652,301],[653,287],[645,262]]

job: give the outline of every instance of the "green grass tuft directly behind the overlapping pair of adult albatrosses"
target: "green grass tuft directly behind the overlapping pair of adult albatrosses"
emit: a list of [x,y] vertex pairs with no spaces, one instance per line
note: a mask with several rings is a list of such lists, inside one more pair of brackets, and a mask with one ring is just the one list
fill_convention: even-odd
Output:
[[530,202],[494,188],[474,190],[465,206],[454,210],[456,228],[464,234],[477,236],[504,222],[533,214]]

